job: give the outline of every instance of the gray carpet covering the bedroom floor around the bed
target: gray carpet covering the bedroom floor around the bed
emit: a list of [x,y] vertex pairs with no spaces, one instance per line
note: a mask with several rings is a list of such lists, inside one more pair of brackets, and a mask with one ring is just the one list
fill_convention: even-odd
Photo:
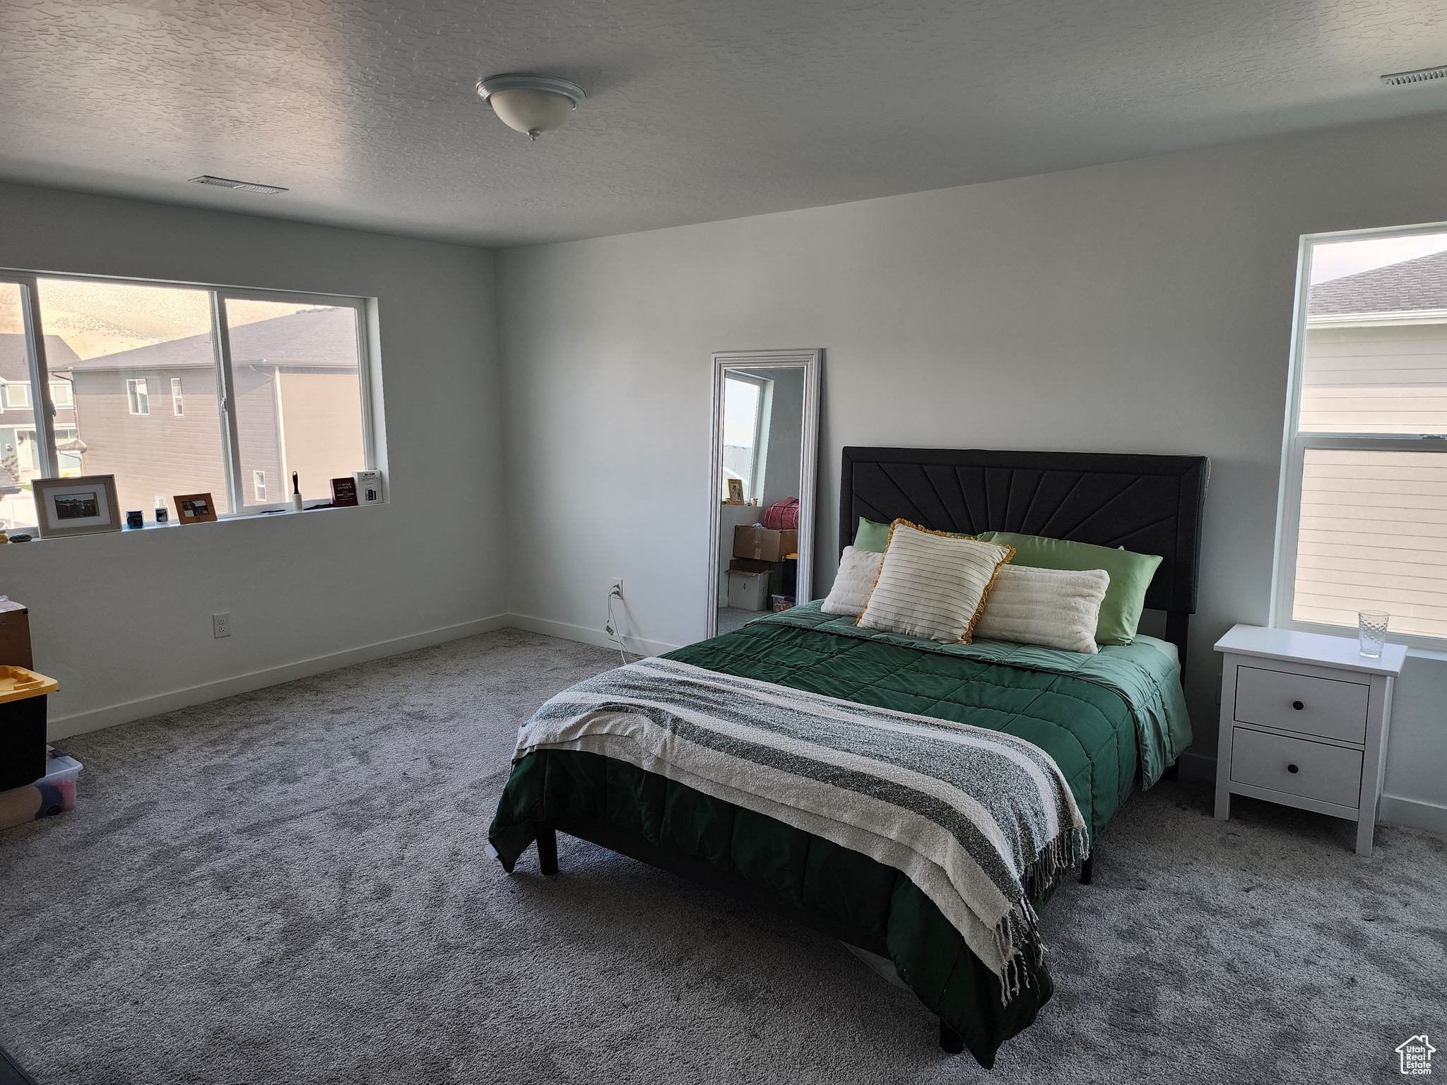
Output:
[[[85,735],[0,833],[0,1044],[75,1082],[1359,1082],[1447,1050],[1447,842],[1160,784],[1045,911],[993,1073],[836,942],[561,839],[482,855],[517,725],[616,655],[504,631]],[[1447,1055],[1438,1056],[1447,1059]],[[1440,1072],[1447,1072],[1444,1068]]]

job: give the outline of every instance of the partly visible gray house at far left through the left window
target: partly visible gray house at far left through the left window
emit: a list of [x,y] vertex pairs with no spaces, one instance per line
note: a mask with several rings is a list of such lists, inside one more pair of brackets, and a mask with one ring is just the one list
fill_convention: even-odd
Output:
[[[74,451],[78,433],[71,380],[56,373],[56,366],[65,369],[80,359],[59,336],[45,337],[45,356],[51,367],[61,473],[80,475],[81,457]],[[39,476],[41,447],[35,440],[35,393],[25,336],[0,334],[0,528],[35,524],[35,499],[25,483]]]

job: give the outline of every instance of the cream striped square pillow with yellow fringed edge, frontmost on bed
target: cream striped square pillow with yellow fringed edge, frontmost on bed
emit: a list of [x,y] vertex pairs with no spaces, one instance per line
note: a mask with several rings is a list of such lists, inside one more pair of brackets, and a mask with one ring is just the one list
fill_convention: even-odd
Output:
[[996,573],[1013,556],[1014,547],[896,519],[880,576],[855,625],[969,644]]

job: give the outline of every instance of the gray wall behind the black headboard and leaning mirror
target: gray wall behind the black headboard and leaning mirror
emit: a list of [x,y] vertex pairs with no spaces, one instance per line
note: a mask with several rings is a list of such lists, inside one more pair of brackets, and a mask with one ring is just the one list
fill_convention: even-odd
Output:
[[[1211,644],[1268,615],[1298,239],[1447,218],[1444,175],[1430,117],[502,253],[512,609],[595,638],[624,576],[642,647],[697,638],[709,356],[825,347],[819,590],[844,444],[1211,457],[1210,757]],[[1418,804],[1389,816],[1447,814],[1444,703],[1447,663],[1412,658],[1386,790]]]

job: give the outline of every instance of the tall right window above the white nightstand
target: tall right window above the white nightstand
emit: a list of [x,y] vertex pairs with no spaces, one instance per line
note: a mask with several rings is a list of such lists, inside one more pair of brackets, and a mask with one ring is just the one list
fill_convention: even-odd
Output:
[[1447,641],[1447,227],[1302,240],[1273,624]]

